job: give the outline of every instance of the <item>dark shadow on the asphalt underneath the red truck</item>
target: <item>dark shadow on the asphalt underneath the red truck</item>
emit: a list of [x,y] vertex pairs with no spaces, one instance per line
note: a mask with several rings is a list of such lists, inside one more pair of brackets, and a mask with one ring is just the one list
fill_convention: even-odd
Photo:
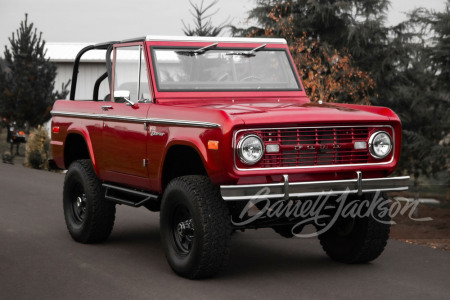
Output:
[[[263,231],[263,230],[261,230]],[[107,242],[108,247],[133,251],[139,260],[153,261],[164,257],[159,226],[124,228]],[[227,280],[242,277],[273,277],[277,274],[307,275],[311,273],[341,272],[348,266],[330,260],[322,251],[317,239],[285,239],[271,232],[248,231],[236,233],[231,239],[230,259],[224,270],[212,280]],[[150,262],[152,270],[171,272],[165,263]],[[367,264],[365,268],[370,266]]]

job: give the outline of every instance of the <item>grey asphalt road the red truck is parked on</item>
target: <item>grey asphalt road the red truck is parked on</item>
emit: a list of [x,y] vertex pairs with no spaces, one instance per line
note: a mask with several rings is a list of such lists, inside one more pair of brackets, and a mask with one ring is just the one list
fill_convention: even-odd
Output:
[[70,238],[64,175],[0,164],[0,299],[449,299],[450,252],[391,240],[371,264],[330,261],[317,239],[272,230],[233,236],[214,279],[176,276],[159,239],[159,215],[118,206],[110,239]]

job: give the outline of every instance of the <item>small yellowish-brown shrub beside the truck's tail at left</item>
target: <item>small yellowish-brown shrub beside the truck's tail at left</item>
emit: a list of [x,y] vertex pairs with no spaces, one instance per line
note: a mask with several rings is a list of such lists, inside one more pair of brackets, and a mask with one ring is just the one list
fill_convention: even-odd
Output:
[[25,151],[25,166],[33,169],[48,169],[50,138],[43,126],[34,129],[28,138]]

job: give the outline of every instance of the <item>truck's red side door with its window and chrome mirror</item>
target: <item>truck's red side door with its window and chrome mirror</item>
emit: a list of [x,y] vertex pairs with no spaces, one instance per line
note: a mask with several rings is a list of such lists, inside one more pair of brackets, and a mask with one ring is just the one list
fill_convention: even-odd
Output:
[[[147,178],[145,119],[150,92],[142,44],[116,47],[113,68],[113,97],[103,106],[103,162],[108,173],[115,173],[107,178]],[[118,180],[124,182],[123,177]]]

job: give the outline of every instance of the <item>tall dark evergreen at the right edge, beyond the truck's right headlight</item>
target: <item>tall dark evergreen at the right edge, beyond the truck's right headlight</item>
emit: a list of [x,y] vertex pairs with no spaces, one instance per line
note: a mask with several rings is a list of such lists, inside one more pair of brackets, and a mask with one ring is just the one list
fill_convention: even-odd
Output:
[[[399,76],[391,86],[395,98],[389,99],[388,104],[398,112],[403,125],[399,169],[413,174],[416,186],[420,175],[436,176],[441,171],[448,175],[449,170],[450,23],[444,21],[450,20],[449,7],[450,1],[445,12],[416,9],[408,21],[399,25],[404,34],[397,38],[403,36],[408,54],[397,61]],[[443,55],[445,50],[447,55]]]

